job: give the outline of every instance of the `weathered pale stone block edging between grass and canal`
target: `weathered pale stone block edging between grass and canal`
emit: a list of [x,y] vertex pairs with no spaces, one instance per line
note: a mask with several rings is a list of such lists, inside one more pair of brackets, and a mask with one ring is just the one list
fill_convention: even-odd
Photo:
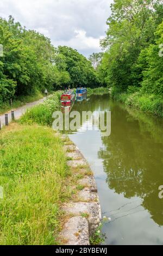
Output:
[[[90,245],[92,237],[101,223],[101,206],[97,193],[96,181],[89,164],[82,153],[68,137],[62,136],[67,164],[70,168],[74,192],[71,200],[65,202],[61,209],[67,218],[60,233],[64,245]],[[101,235],[96,239],[100,241]],[[98,240],[96,242],[98,242]]]

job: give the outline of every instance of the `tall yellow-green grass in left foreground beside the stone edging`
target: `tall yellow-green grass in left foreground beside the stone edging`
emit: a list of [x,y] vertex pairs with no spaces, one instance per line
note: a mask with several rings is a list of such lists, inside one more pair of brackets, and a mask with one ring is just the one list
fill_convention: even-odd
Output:
[[61,140],[48,127],[12,124],[0,133],[0,153],[0,245],[56,244],[66,178]]

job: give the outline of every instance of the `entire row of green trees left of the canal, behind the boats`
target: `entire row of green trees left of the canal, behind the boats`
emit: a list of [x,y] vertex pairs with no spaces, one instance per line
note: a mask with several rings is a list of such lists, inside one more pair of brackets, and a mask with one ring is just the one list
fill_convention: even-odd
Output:
[[55,48],[46,36],[27,30],[12,16],[0,17],[0,45],[0,105],[45,88],[97,86],[98,76],[82,54],[66,46]]

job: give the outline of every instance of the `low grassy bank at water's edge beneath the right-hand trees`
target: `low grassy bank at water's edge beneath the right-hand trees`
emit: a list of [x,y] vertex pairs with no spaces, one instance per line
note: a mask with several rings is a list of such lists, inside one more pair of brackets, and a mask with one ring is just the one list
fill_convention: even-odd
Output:
[[112,91],[111,95],[115,100],[121,101],[128,106],[163,117],[163,97],[160,95],[143,94],[141,91],[130,92],[130,90],[127,93],[115,93]]

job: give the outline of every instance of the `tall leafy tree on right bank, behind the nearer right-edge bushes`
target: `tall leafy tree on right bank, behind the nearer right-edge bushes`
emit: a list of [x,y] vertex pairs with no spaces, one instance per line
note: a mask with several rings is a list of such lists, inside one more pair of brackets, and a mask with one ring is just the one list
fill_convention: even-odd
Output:
[[101,81],[117,92],[125,92],[129,86],[141,86],[143,75],[137,62],[141,51],[155,43],[161,3],[159,0],[115,0],[111,5],[109,28],[101,41],[106,53],[99,70]]

